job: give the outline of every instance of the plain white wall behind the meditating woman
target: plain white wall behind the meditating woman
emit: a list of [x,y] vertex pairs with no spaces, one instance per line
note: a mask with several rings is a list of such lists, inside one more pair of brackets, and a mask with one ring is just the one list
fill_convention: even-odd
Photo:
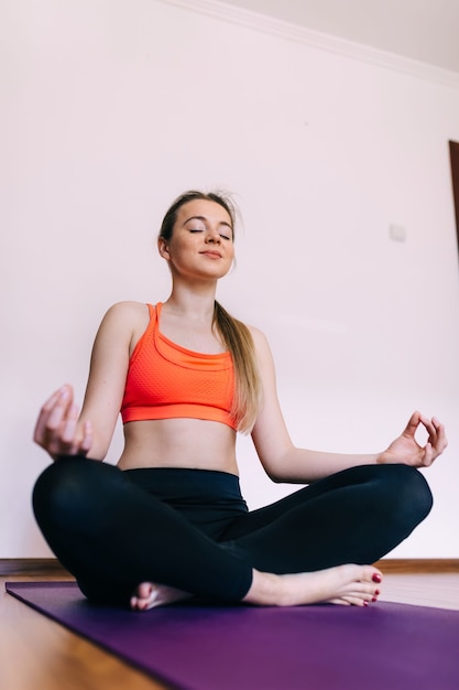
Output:
[[[294,441],[376,451],[412,410],[439,416],[436,505],[393,554],[458,558],[459,89],[155,0],[2,14],[0,557],[50,554],[30,508],[40,405],[65,381],[81,399],[111,303],[167,297],[172,198],[223,186],[244,228],[219,297],[270,337]],[[239,453],[252,507],[291,490]]]

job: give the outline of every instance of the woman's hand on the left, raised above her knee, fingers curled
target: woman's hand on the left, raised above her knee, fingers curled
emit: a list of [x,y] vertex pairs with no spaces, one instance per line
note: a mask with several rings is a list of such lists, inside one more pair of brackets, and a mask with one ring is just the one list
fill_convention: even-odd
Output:
[[72,386],[63,386],[40,410],[33,440],[53,460],[59,455],[86,455],[92,445],[92,429],[89,421],[78,422],[78,414]]

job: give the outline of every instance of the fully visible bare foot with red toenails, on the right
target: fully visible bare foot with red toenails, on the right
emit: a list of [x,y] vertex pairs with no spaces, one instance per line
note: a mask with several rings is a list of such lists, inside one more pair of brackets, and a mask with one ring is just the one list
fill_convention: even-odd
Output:
[[378,600],[381,581],[381,571],[372,565],[347,564],[286,575],[254,570],[252,586],[243,601],[265,606],[317,603],[367,606]]

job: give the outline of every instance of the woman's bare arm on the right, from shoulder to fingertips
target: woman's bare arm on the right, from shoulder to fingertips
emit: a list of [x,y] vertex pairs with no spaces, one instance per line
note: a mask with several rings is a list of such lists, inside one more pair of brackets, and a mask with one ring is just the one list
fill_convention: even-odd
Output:
[[[263,382],[263,399],[252,431],[253,443],[266,474],[273,482],[309,484],[356,465],[403,463],[427,467],[447,446],[445,428],[419,412],[414,412],[403,433],[381,453],[348,455],[324,453],[296,448],[288,434],[278,403],[274,363],[271,349],[261,331],[251,328]],[[425,445],[415,440],[418,427],[424,427],[428,439]]]

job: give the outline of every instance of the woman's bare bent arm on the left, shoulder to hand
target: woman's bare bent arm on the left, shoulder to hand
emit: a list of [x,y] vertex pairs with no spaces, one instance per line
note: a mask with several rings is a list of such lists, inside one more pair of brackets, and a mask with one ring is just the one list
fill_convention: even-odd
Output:
[[147,323],[147,310],[138,302],[120,302],[105,315],[96,335],[81,413],[72,386],[63,386],[44,403],[34,441],[55,460],[88,455],[103,460],[113,435],[129,357]]

